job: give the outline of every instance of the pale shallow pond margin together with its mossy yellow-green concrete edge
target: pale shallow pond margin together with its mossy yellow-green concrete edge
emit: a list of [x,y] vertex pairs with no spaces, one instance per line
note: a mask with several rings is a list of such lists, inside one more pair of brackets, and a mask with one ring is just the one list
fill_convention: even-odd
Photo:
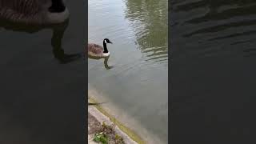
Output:
[[[143,127],[141,122],[138,122],[131,115],[127,114],[125,110],[119,109],[112,101],[109,96],[102,94],[101,91],[95,90],[94,87],[89,85],[88,95],[90,103],[102,103],[100,105],[93,105],[97,110],[100,111],[104,116],[115,123],[116,126],[121,127],[122,131],[129,134],[130,138],[135,139],[136,142],[147,143],[147,144],[163,144],[161,139],[151,134],[150,131]],[[89,107],[91,107],[90,105]],[[134,136],[134,138],[133,138]],[[138,140],[136,140],[138,139]]]

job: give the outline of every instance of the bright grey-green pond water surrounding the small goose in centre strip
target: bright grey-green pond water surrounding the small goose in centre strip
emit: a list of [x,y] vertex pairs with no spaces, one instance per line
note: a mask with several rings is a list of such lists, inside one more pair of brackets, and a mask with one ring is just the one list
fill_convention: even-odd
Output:
[[88,41],[101,46],[104,38],[113,42],[107,45],[110,58],[105,62],[89,59],[89,89],[124,112],[126,118],[115,116],[127,125],[133,119],[167,143],[167,0],[90,0],[88,13]]

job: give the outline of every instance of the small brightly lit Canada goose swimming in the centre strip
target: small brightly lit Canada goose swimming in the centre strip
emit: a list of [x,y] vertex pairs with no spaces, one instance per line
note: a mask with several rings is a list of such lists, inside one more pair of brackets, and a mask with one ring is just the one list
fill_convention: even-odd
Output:
[[94,43],[88,43],[88,55],[92,57],[105,58],[110,56],[106,43],[112,43],[108,38],[103,39],[103,47]]

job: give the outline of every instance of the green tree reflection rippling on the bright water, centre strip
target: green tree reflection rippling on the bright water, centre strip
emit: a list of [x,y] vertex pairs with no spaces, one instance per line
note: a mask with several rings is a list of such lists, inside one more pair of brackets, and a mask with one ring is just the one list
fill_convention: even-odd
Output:
[[167,62],[168,1],[127,0],[125,18],[129,20],[136,36],[136,43],[146,60]]

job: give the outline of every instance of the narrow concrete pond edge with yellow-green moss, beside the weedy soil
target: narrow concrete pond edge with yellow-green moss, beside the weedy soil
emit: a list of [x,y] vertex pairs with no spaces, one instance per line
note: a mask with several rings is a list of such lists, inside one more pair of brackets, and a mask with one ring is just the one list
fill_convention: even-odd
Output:
[[[91,103],[97,103],[97,101],[94,98],[89,98],[89,102]],[[88,112],[94,116],[98,120],[98,122],[105,122],[107,125],[114,124],[115,125],[115,132],[116,134],[122,136],[123,140],[128,144],[145,144],[138,136],[138,134],[135,134],[133,130],[130,130],[128,127],[124,126],[121,122],[119,122],[116,118],[114,118],[111,114],[106,112],[102,108],[102,106],[94,105],[94,106],[88,106]]]

